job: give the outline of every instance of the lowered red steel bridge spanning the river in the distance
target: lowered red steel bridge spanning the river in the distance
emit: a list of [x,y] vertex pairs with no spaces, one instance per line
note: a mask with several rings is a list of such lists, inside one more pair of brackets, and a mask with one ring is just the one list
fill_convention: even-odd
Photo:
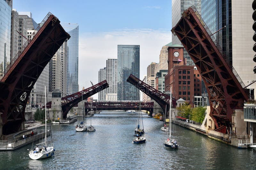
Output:
[[84,103],[85,113],[90,110],[147,110],[153,113],[154,102],[93,102]]

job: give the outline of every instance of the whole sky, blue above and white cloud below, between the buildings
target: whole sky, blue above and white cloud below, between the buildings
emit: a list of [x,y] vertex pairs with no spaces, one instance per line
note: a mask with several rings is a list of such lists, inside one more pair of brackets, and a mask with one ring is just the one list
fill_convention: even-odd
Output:
[[[61,23],[79,25],[79,90],[98,83],[100,68],[117,58],[117,45],[140,45],[140,79],[162,46],[172,41],[171,0],[13,0],[16,11],[30,11],[40,23],[51,12]],[[98,95],[93,95],[97,99]]]

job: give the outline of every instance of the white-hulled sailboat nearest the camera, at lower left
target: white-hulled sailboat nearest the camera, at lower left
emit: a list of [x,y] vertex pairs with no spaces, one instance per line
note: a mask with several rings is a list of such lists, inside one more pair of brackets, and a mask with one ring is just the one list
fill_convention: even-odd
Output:
[[[48,158],[54,155],[54,147],[53,144],[52,146],[47,146],[47,131],[46,131],[46,124],[47,124],[47,119],[46,119],[46,86],[44,86],[45,90],[45,137],[44,137],[44,142],[36,144],[36,148],[34,150],[30,150],[28,155],[31,159],[37,160],[37,159],[44,159]],[[43,144],[43,145],[42,145]],[[49,144],[48,144],[49,145]]]

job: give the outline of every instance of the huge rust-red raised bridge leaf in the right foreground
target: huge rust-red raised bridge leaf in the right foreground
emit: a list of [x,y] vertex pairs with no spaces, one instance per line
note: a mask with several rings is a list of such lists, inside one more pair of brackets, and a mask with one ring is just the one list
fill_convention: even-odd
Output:
[[203,78],[216,128],[230,127],[233,109],[241,108],[248,100],[242,80],[194,6],[183,12],[172,33],[180,39]]

